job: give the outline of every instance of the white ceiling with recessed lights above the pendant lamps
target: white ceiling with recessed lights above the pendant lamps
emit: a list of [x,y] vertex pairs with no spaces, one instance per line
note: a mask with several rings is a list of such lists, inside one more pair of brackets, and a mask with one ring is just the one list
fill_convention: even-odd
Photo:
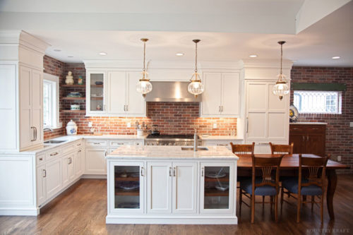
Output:
[[[258,20],[275,16],[279,21],[279,18],[286,17],[285,22],[289,22],[289,28],[294,25],[294,30],[295,18],[304,3],[304,0],[106,0],[100,1],[102,4],[97,5],[95,4],[97,1],[90,0],[86,1],[85,7],[82,7],[78,1],[72,0],[46,2],[36,0],[31,1],[32,4],[28,4],[27,1],[18,4],[18,1],[0,0],[0,11],[6,14],[10,14],[8,13],[10,11],[25,12],[25,14],[35,12],[200,13],[206,14],[204,16],[211,13],[239,14],[239,16],[248,14],[247,17],[258,15],[256,16]],[[37,4],[33,4],[33,2]],[[149,4],[146,4],[147,2]],[[2,17],[8,17],[8,15],[3,14]],[[140,18],[136,17],[136,20],[140,20]],[[167,20],[170,19],[166,18]],[[14,23],[14,26],[5,24],[4,21],[1,24],[0,13],[0,29],[17,29],[23,23],[22,21],[18,20],[18,25]],[[76,21],[80,21],[80,19],[76,19]],[[197,25],[198,22],[194,23]],[[246,21],[241,23],[243,27],[247,25]],[[196,38],[201,39],[198,47],[201,61],[238,61],[239,59],[249,59],[250,54],[257,54],[257,59],[279,59],[280,46],[277,41],[285,40],[287,44],[284,45],[284,58],[297,60],[294,65],[353,66],[353,2],[338,8],[337,11],[311,24],[298,34],[283,30],[282,27],[285,28],[286,25],[275,25],[275,30],[271,30],[281,32],[281,34],[264,33],[263,30],[258,30],[259,25],[251,24],[249,27],[253,28],[249,31],[253,31],[252,33],[241,28],[224,30],[224,32],[217,30],[196,32],[195,30],[187,30],[187,28],[186,30],[176,30],[178,32],[168,32],[168,30],[112,30],[112,28],[97,30],[94,27],[90,29],[90,25],[86,25],[86,28],[81,28],[81,30],[67,27],[52,27],[51,29],[45,25],[44,27],[40,22],[37,22],[37,25],[32,22],[28,28],[20,29],[52,44],[52,47],[47,49],[47,54],[65,62],[82,62],[83,59],[142,60],[143,44],[139,40],[141,37],[148,37],[150,41],[147,45],[147,57],[155,61],[192,61],[194,59],[192,40]],[[61,49],[61,52],[54,52],[54,49]],[[100,56],[99,52],[107,52],[107,56]],[[177,52],[184,52],[185,55],[175,56]],[[68,58],[68,56],[73,56],[73,58]],[[333,60],[332,56],[341,56],[341,59]]]

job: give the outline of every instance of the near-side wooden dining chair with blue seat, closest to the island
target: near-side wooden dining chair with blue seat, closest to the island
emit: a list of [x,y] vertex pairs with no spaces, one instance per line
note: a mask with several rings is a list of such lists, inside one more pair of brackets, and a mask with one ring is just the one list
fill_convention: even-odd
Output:
[[[280,164],[282,157],[256,157],[251,155],[252,159],[252,174],[250,180],[240,181],[239,191],[239,216],[241,215],[241,204],[243,202],[242,196],[245,195],[251,200],[251,224],[254,222],[255,217],[255,197],[256,195],[270,196],[270,207],[275,204],[275,221],[278,221],[277,206],[278,206],[278,193],[280,181]],[[256,169],[261,169],[261,177],[256,177]],[[275,174],[273,176],[273,171]],[[273,201],[273,198],[275,200]],[[259,202],[260,203],[260,202]],[[263,202],[261,202],[263,203]],[[246,204],[248,205],[248,204]],[[249,205],[248,205],[249,206]]]

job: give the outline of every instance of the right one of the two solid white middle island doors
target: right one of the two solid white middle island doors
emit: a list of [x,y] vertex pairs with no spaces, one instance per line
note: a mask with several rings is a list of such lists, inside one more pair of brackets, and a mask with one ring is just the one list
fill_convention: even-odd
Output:
[[173,162],[173,214],[196,214],[197,162]]

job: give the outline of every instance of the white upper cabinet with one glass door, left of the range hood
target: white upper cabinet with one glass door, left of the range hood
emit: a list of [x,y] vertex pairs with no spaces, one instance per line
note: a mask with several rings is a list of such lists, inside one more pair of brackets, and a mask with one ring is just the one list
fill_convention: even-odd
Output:
[[87,71],[87,116],[145,116],[138,71]]

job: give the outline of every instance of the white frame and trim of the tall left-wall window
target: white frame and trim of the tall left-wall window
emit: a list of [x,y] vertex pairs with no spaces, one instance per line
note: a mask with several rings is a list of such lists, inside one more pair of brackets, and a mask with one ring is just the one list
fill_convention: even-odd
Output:
[[[44,101],[44,83],[51,83],[52,85],[52,125],[44,126],[44,104],[43,104],[43,128],[61,128],[59,120],[59,76],[54,76],[49,73],[43,74],[43,101]],[[53,87],[55,88],[53,89]]]

